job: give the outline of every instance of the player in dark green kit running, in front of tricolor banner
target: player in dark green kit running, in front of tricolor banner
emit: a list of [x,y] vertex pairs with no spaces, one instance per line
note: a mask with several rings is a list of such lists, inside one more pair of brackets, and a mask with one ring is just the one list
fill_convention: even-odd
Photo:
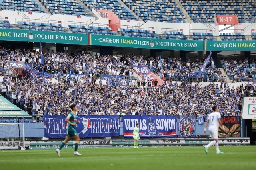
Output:
[[71,137],[74,137],[74,139],[76,139],[74,155],[81,156],[81,154],[77,152],[78,144],[80,141],[78,133],[76,131],[76,123],[80,123],[80,121],[77,120],[77,115],[76,115],[76,112],[78,111],[78,107],[76,106],[76,104],[72,104],[70,108],[72,111],[71,113],[69,113],[69,115],[65,120],[68,123],[68,133],[66,135],[66,139],[60,145],[60,148],[56,149],[56,153],[58,156],[60,156],[60,150],[66,145],[66,143],[71,139]]

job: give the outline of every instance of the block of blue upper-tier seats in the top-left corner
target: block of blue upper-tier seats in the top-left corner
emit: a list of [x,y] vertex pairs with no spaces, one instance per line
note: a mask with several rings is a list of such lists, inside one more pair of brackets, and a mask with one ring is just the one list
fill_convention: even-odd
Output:
[[44,13],[44,10],[34,0],[0,0],[0,8],[11,11]]

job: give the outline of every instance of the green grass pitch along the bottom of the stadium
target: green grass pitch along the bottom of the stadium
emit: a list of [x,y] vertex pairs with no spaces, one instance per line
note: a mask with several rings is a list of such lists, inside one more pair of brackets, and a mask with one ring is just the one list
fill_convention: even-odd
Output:
[[256,146],[140,147],[0,151],[1,170],[253,170]]

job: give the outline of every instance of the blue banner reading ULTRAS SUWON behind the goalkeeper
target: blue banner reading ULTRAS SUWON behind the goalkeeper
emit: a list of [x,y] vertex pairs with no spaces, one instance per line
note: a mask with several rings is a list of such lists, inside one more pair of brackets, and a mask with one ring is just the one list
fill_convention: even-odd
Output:
[[139,123],[140,137],[175,137],[175,116],[123,116],[124,137],[133,137],[133,129]]

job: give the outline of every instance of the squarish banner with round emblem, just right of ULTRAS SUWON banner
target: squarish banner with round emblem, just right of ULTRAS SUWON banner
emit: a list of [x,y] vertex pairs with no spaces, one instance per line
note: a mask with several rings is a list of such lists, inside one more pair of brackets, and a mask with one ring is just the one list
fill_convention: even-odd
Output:
[[177,116],[178,137],[195,137],[195,116]]

